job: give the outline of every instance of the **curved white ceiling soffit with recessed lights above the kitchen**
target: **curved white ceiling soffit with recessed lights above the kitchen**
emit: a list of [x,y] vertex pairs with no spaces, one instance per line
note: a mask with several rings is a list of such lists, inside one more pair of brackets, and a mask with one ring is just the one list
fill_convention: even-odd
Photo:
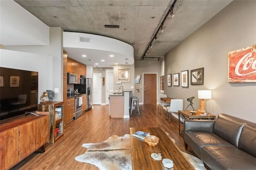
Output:
[[63,32],[63,49],[68,57],[93,67],[134,64],[132,45],[104,36]]

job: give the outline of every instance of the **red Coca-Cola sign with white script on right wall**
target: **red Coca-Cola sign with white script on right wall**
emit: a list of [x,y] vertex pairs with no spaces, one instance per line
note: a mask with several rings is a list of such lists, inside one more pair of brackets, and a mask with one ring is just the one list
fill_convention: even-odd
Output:
[[230,51],[228,67],[230,83],[256,82],[256,45]]

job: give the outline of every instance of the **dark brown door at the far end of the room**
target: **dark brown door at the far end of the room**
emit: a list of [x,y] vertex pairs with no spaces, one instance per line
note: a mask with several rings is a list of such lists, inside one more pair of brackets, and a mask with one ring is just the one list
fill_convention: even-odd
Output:
[[156,74],[144,74],[144,105],[156,104]]

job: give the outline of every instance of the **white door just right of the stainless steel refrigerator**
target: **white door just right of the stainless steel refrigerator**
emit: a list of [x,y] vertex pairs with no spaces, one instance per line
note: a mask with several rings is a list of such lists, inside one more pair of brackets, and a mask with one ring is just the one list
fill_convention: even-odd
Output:
[[101,105],[101,73],[93,73],[93,105]]

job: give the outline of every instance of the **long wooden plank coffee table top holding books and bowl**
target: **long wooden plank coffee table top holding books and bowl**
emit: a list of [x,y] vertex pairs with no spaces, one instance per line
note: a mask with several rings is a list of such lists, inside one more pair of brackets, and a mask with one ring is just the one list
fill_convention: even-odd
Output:
[[[150,132],[151,135],[159,138],[159,143],[155,147],[149,146],[146,142],[132,137],[138,130]],[[130,128],[130,142],[132,153],[132,170],[162,170],[164,166],[162,160],[151,158],[152,153],[161,153],[162,158],[168,158],[174,163],[174,170],[194,170],[187,158],[180,149],[170,140],[165,132],[160,128]]]

